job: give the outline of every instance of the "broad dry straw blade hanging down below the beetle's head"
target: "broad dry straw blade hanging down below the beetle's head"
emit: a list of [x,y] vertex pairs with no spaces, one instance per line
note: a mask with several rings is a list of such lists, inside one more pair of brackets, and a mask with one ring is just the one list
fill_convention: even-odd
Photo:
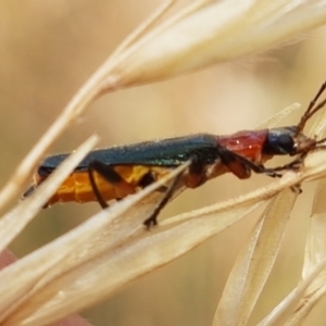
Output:
[[294,202],[296,193],[289,189],[269,202],[228,277],[214,325],[248,324],[274,265]]

